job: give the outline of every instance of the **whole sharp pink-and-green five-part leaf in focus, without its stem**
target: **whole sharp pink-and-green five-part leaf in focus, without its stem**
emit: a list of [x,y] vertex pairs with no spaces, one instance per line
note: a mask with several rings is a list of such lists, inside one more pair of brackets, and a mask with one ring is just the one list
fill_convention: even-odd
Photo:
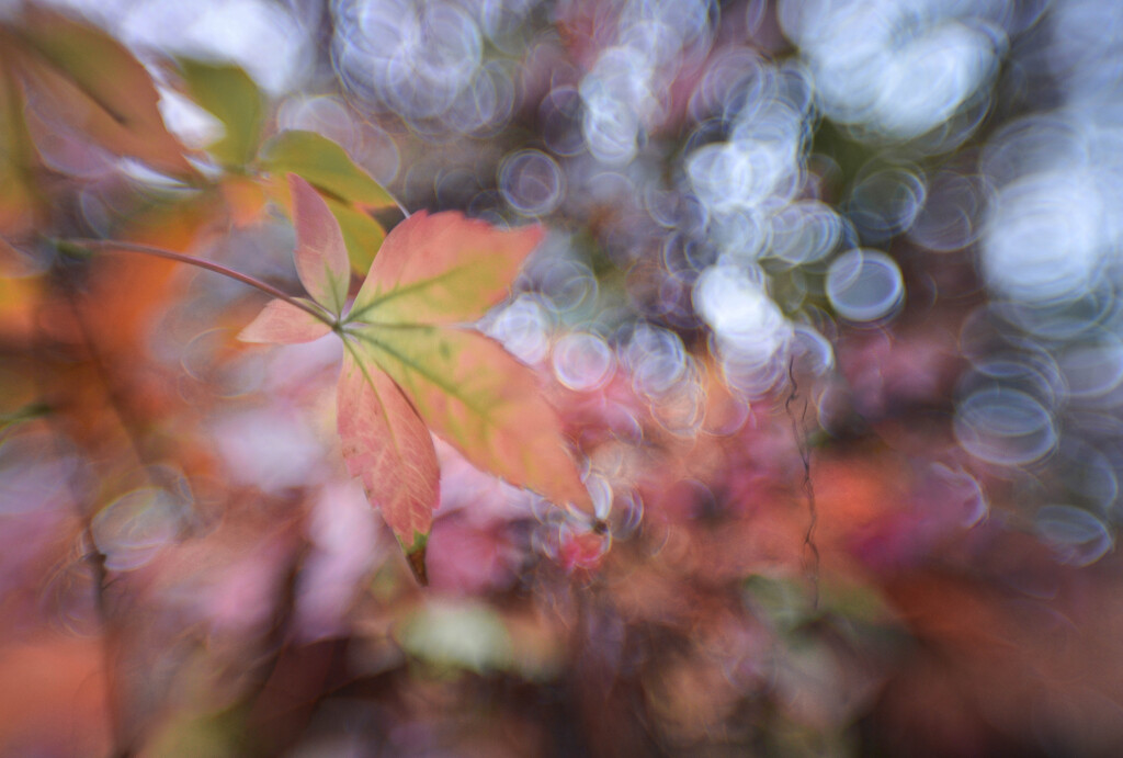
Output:
[[339,225],[307,181],[290,174],[289,186],[296,273],[312,302],[302,302],[302,310],[274,300],[239,338],[290,344],[332,330],[340,336],[344,459],[418,578],[426,582],[426,542],[439,499],[430,430],[478,468],[592,512],[533,372],[466,326],[506,296],[541,229],[503,230],[455,211],[414,213],[386,236],[345,312],[350,277]]

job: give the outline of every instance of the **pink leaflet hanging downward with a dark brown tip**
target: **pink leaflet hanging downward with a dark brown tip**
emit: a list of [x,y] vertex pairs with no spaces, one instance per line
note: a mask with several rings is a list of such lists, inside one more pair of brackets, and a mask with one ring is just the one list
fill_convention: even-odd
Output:
[[393,380],[357,355],[350,340],[345,347],[338,428],[347,471],[362,478],[424,582],[424,546],[440,476],[432,438]]

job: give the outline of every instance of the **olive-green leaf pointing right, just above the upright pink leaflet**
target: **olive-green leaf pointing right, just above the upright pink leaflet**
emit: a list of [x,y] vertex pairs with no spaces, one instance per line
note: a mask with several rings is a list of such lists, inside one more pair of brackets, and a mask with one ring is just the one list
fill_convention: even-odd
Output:
[[318,190],[366,208],[390,208],[394,199],[347,152],[314,131],[282,131],[262,147],[262,165],[274,174],[303,176]]

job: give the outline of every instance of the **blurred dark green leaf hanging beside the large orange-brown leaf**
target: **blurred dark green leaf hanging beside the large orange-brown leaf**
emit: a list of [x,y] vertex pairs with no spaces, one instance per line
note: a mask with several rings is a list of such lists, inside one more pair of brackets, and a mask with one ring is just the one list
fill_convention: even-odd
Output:
[[208,149],[226,166],[245,166],[257,152],[265,117],[265,98],[257,84],[236,65],[177,62],[188,94],[226,127],[226,135]]

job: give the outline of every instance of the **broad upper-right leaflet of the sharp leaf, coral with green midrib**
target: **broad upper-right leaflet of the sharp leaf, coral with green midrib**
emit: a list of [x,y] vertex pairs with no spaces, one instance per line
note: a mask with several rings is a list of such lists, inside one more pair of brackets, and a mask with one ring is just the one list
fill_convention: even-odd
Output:
[[540,227],[504,230],[448,211],[419,211],[386,237],[348,320],[457,323],[506,296]]

